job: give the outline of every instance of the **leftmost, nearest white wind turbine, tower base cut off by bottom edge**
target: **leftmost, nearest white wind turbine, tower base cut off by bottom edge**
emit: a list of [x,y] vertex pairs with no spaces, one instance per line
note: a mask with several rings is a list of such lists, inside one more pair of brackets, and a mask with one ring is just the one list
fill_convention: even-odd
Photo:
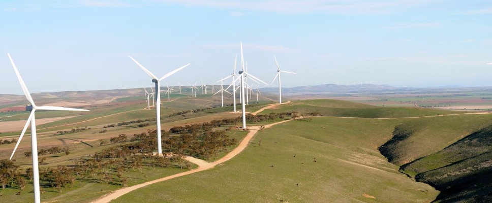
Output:
[[14,156],[15,150],[17,150],[17,147],[19,146],[20,141],[22,140],[22,137],[24,136],[25,131],[27,130],[27,126],[31,126],[31,148],[32,148],[32,158],[33,158],[33,185],[34,185],[34,202],[39,203],[41,202],[41,195],[40,195],[40,188],[39,188],[39,163],[38,163],[38,143],[37,143],[37,138],[36,138],[36,119],[35,119],[35,112],[36,110],[54,110],[54,111],[89,111],[85,109],[72,109],[72,108],[64,108],[64,107],[49,107],[49,106],[36,106],[34,104],[33,98],[30,96],[29,91],[27,90],[27,87],[24,84],[24,81],[22,80],[22,77],[20,77],[19,71],[17,70],[17,67],[15,66],[14,60],[12,60],[12,57],[10,56],[9,53],[10,62],[12,63],[12,66],[14,67],[15,74],[17,75],[17,79],[19,80],[20,86],[22,87],[22,91],[24,91],[25,97],[29,101],[30,105],[25,107],[26,111],[30,111],[29,117],[27,118],[27,122],[24,125],[24,129],[22,129],[22,132],[20,133],[19,140],[17,141],[17,144],[15,144],[14,151],[12,152],[12,155],[10,156],[10,160],[12,160],[12,157]]

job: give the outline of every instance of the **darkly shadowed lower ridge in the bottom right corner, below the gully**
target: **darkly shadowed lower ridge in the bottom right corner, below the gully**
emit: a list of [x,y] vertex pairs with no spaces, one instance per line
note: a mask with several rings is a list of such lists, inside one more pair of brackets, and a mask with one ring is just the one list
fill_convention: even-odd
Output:
[[419,182],[443,191],[439,200],[492,200],[492,126],[402,167]]

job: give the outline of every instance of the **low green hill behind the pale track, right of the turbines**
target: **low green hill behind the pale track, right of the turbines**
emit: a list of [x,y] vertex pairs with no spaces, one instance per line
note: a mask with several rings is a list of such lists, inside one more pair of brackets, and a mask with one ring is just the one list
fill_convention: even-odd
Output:
[[371,105],[359,104],[352,101],[315,99],[292,101],[290,104],[285,104],[275,109],[268,109],[261,114],[293,111],[299,112],[301,114],[320,113],[323,116],[359,118],[401,118],[466,113],[416,107],[376,107]]

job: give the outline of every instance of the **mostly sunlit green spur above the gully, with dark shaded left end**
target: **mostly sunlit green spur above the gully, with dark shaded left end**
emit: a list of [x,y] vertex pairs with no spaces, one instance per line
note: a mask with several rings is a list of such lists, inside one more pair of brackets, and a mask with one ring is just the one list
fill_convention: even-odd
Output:
[[402,122],[394,128],[393,138],[379,150],[390,162],[403,165],[444,149],[490,125],[491,120],[492,114],[467,114]]

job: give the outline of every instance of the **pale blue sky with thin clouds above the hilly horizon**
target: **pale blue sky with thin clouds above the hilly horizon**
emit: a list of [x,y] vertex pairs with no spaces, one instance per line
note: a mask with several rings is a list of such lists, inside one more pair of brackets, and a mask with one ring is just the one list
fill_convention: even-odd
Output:
[[[210,84],[240,46],[282,86],[492,86],[488,0],[80,0],[0,2],[0,94]],[[230,83],[230,82],[228,82]],[[275,81],[273,86],[278,86]],[[260,85],[265,87],[265,85]]]

